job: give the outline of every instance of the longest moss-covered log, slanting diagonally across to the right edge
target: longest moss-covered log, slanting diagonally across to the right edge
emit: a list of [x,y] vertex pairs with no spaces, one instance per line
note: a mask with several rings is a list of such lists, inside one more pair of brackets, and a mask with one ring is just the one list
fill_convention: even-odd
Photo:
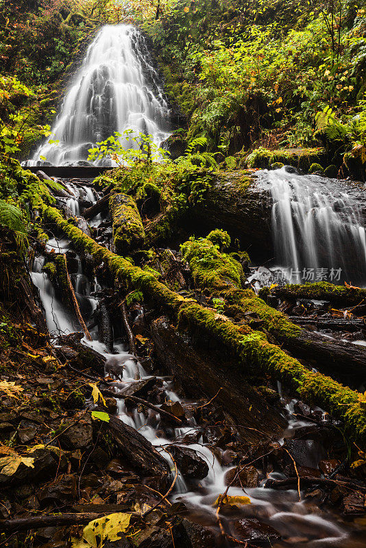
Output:
[[244,374],[255,373],[259,368],[295,388],[304,399],[344,421],[348,434],[353,438],[366,438],[366,409],[357,392],[321,373],[309,371],[280,347],[269,343],[262,332],[254,331],[247,325],[234,325],[215,310],[204,308],[193,299],[185,299],[169,290],[152,273],[133,266],[62,219],[56,208],[37,205],[45,219],[56,223],[77,249],[88,251],[95,261],[104,262],[117,279],[130,282],[146,297],[151,297],[169,310],[178,319],[180,329],[212,337],[230,353],[232,363]]

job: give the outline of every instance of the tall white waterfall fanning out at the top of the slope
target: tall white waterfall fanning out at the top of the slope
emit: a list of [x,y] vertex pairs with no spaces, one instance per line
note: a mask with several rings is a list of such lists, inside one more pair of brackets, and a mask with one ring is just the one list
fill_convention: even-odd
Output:
[[[85,164],[88,149],[125,129],[151,135],[160,146],[169,136],[169,108],[143,35],[132,25],[106,25],[88,47],[51,137],[27,165]],[[138,148],[124,137],[120,142]]]

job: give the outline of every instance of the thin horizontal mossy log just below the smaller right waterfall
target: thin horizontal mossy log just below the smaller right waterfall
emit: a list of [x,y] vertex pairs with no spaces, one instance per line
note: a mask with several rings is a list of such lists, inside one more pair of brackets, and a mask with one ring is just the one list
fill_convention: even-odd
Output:
[[[259,296],[267,299],[269,289],[263,288]],[[329,282],[316,282],[315,284],[288,284],[271,289],[271,295],[287,301],[297,299],[317,299],[329,301],[332,306],[352,307],[366,303],[366,289],[352,286],[334,286]]]

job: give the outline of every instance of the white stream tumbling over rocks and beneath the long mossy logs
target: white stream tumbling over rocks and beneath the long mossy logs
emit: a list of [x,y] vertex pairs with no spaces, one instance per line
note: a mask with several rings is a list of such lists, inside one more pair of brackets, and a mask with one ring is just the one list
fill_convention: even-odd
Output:
[[[71,197],[68,201],[69,207],[75,212],[79,211],[79,204],[77,197],[80,194],[88,195],[91,197],[93,192],[90,191],[88,186],[80,188],[77,186],[71,187],[75,198]],[[95,202],[95,199],[93,201]],[[71,201],[75,203],[72,204]],[[95,221],[98,225],[101,222]],[[66,253],[70,249],[69,241],[66,239],[53,238],[48,242],[49,249],[55,249],[60,253]],[[43,308],[45,309],[45,316],[47,319],[47,325],[49,331],[54,336],[60,335],[60,333],[70,333],[80,330],[75,325],[74,320],[71,318],[68,312],[66,312],[64,306],[58,301],[51,283],[47,280],[45,274],[42,273],[42,259],[36,258],[32,269],[32,277],[34,283],[40,291],[40,299],[42,301]],[[88,284],[80,284],[80,280],[85,278],[82,273],[82,266],[77,269],[77,273],[72,276],[73,284],[75,286],[77,299],[80,302],[84,319],[90,320],[93,314],[93,310],[97,307],[98,292],[101,287],[95,280],[91,280]],[[92,292],[93,297],[90,295]],[[116,329],[117,332],[117,329]],[[93,349],[99,351],[108,360],[114,358],[120,364],[121,379],[123,387],[132,382],[136,382],[136,360],[133,356],[127,352],[125,346],[114,340],[114,353],[109,353],[106,347],[98,341],[97,327],[90,330],[93,337],[93,341],[90,343],[85,338],[83,343]],[[138,374],[141,379],[149,378],[151,375],[143,369],[141,364],[137,364]],[[171,401],[182,401],[182,398],[178,398],[178,395],[172,389],[172,382],[169,377],[162,378],[163,388],[166,398]],[[171,463],[171,459],[167,452],[164,451],[164,447],[169,449],[171,443],[182,443],[182,438],[186,434],[199,433],[197,443],[182,443],[183,447],[190,447],[197,451],[197,454],[204,458],[209,467],[208,476],[199,481],[186,484],[182,475],[179,474],[178,481],[175,484],[175,490],[171,495],[171,501],[182,501],[188,508],[191,519],[197,523],[202,523],[211,527],[213,530],[217,530],[217,520],[215,516],[216,508],[212,505],[217,497],[225,490],[225,473],[232,468],[232,466],[223,466],[220,464],[217,455],[210,451],[202,433],[204,430],[195,422],[195,419],[188,419],[188,424],[185,427],[179,427],[173,429],[171,437],[163,438],[158,433],[160,417],[154,411],[149,411],[148,417],[145,414],[138,412],[138,410],[128,410],[123,400],[118,401],[118,416],[121,421],[131,425],[135,429],[138,429],[145,438],[147,438],[155,447],[167,458],[167,461]],[[184,404],[184,401],[182,401]],[[192,403],[191,401],[188,403]],[[304,425],[309,426],[310,423],[296,421],[291,412],[293,407],[291,403],[286,406],[289,419],[289,427],[284,432],[283,436],[291,437],[293,432],[299,427]],[[279,445],[283,443],[282,440],[278,440]],[[312,441],[308,441],[308,466],[317,466],[319,459],[324,457],[321,451],[322,449],[313,446]],[[316,453],[320,451],[320,453]],[[260,463],[258,461],[256,466]],[[301,546],[304,548],[361,548],[366,546],[366,541],[362,539],[361,532],[354,532],[355,526],[347,525],[343,518],[337,514],[332,514],[328,510],[321,510],[311,499],[307,500],[302,494],[302,499],[299,500],[297,490],[284,490],[278,491],[270,488],[265,488],[265,479],[273,477],[274,479],[281,479],[284,477],[280,472],[272,472],[266,474],[260,467],[258,472],[262,474],[263,481],[257,488],[247,488],[245,493],[241,488],[231,487],[229,495],[246,495],[250,498],[251,503],[247,506],[241,507],[239,515],[236,515],[235,519],[231,519],[228,516],[222,516],[223,523],[226,523],[228,527],[232,526],[232,523],[238,518],[256,518],[260,523],[271,525],[277,530],[282,540],[276,543],[276,547],[289,547],[289,546]],[[351,532],[352,529],[352,532]],[[356,527],[357,529],[357,527]],[[212,547],[213,548],[213,547]]]

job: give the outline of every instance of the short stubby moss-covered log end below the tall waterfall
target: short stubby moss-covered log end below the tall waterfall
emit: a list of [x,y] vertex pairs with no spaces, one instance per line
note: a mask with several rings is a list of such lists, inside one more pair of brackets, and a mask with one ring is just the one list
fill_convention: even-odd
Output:
[[145,238],[143,221],[136,202],[125,194],[114,194],[109,201],[113,223],[113,245],[117,255],[141,247]]

